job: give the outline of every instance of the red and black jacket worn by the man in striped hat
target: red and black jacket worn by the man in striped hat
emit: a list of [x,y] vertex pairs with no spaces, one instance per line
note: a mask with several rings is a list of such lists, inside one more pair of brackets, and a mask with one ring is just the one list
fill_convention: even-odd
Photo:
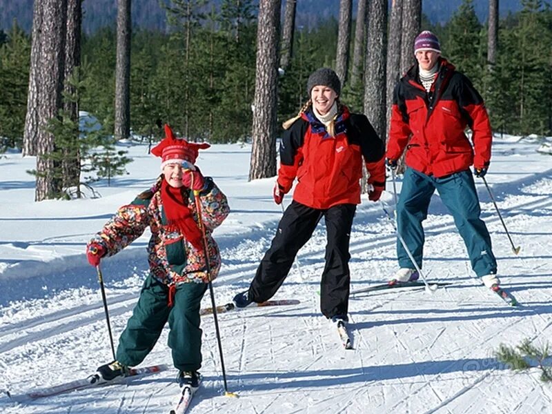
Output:
[[[397,83],[393,93],[388,159],[399,159],[406,147],[406,165],[426,175],[489,166],[491,124],[483,99],[468,78],[440,58],[437,79],[426,93],[417,80],[417,65]],[[473,132],[473,148],[464,133]]]

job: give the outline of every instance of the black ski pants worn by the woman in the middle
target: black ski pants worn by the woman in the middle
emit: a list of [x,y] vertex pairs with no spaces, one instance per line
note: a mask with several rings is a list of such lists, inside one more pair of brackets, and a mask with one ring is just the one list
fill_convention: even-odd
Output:
[[327,243],[326,266],[320,282],[320,310],[328,319],[335,316],[346,319],[351,283],[349,239],[356,208],[355,204],[338,204],[319,210],[292,201],[257,268],[249,287],[249,297],[254,302],[264,302],[275,295],[293,266],[297,252],[308,242],[324,217]]

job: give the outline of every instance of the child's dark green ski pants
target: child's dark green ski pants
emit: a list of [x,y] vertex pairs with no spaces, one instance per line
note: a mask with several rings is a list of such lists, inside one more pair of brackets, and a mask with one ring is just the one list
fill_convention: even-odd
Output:
[[137,366],[150,353],[168,322],[168,346],[172,362],[180,371],[201,367],[201,328],[199,308],[207,289],[204,283],[177,286],[173,306],[168,307],[168,287],[149,275],[138,303],[119,338],[117,361]]

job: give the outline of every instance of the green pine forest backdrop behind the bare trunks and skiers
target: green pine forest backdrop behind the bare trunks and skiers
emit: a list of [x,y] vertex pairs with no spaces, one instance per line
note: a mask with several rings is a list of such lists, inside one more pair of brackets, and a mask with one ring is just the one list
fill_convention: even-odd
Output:
[[[10,4],[5,3],[3,13]],[[88,0],[83,5],[86,3]],[[95,6],[99,3],[95,2]],[[157,139],[160,131],[155,121],[162,119],[179,131],[186,122],[189,139],[213,143],[246,141],[251,137],[255,93],[256,2],[242,0],[237,2],[239,8],[233,6],[235,1],[228,0],[188,3],[193,5],[186,17],[188,32],[183,30],[182,19],[175,19],[167,10],[163,11],[166,26],[132,28],[130,127],[137,135]],[[299,10],[299,5],[308,0],[297,3]],[[322,12],[317,14],[315,23],[312,19],[304,26],[296,22],[293,55],[278,81],[278,125],[295,115],[306,101],[308,75],[321,66],[335,68],[338,21],[335,14],[324,14],[327,7],[322,3]],[[337,9],[337,0],[334,3]],[[487,23],[476,12],[482,3],[486,7],[487,1],[462,1],[444,23],[431,21],[423,14],[421,27],[437,34],[443,56],[468,75],[480,90],[495,132],[550,135],[552,10],[549,2],[521,0],[518,11],[512,11],[515,5],[511,6],[511,2],[500,2],[501,10],[504,3],[509,3],[511,8],[500,17],[497,61],[492,72],[486,70]],[[144,10],[139,4],[135,3],[133,10]],[[161,10],[159,3],[157,7]],[[297,16],[299,19],[299,12]],[[85,12],[83,27],[86,19]],[[23,29],[17,19],[10,28],[0,27],[0,151],[21,148],[30,67],[28,30],[28,23]],[[355,20],[351,32],[354,30]],[[115,21],[110,21],[95,30],[83,30],[81,39],[79,109],[90,112],[103,125],[112,125],[114,119],[116,37]],[[353,50],[353,41],[351,36],[350,50]],[[351,71],[351,65],[349,68]],[[345,83],[342,101],[353,111],[366,112],[363,83],[364,77],[355,86]]]

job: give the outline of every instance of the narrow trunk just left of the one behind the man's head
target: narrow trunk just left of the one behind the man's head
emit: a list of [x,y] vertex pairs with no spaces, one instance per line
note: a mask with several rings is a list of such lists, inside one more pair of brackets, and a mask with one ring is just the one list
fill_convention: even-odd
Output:
[[393,90],[402,73],[401,62],[401,26],[402,26],[402,0],[391,1],[391,19],[389,21],[389,41],[387,43],[387,69],[386,69],[386,128],[391,126],[391,108],[393,107]]

